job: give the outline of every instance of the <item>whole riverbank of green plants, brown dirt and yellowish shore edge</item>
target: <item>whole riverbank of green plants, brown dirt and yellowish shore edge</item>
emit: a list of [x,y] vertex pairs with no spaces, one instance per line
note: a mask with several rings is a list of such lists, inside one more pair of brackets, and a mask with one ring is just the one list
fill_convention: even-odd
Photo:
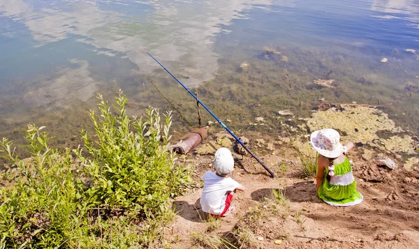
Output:
[[[10,227],[3,226],[3,231],[9,233],[9,239],[17,239],[17,242],[13,242],[15,246],[19,246],[27,239],[28,243],[38,243],[36,238],[43,236],[43,233],[55,238],[53,232],[55,228],[51,222],[54,221],[52,217],[57,215],[57,210],[52,207],[56,201],[63,200],[62,198],[68,202],[63,204],[64,206],[73,206],[64,217],[70,215],[75,215],[71,216],[73,218],[77,217],[71,220],[77,226],[70,227],[68,230],[70,232],[64,230],[63,238],[68,236],[68,239],[63,239],[62,243],[70,245],[85,239],[89,245],[86,248],[97,246],[98,243],[113,245],[115,241],[112,242],[112,239],[115,239],[117,228],[112,228],[112,224],[124,225],[124,231],[129,237],[119,236],[119,239],[122,243],[131,245],[126,248],[135,248],[135,245],[152,246],[155,243],[156,248],[166,245],[168,248],[182,249],[193,246],[197,248],[335,248],[335,246],[416,248],[419,245],[417,236],[419,220],[416,218],[419,204],[418,138],[411,130],[397,126],[395,121],[389,119],[385,111],[378,110],[378,107],[356,103],[332,104],[322,100],[318,107],[311,111],[310,118],[297,117],[290,110],[279,110],[272,116],[257,116],[254,121],[249,122],[249,129],[235,133],[250,139],[251,150],[277,174],[277,177],[270,178],[256,160],[235,153],[236,170],[233,177],[244,183],[248,190],[237,195],[235,201],[237,209],[231,216],[219,220],[207,220],[199,206],[202,188],[200,176],[212,169],[212,158],[217,148],[225,146],[234,151],[234,139],[216,126],[216,123],[208,121],[207,125],[211,129],[207,140],[187,156],[172,158],[166,153],[166,142],[171,137],[168,133],[168,126],[171,124],[170,115],[166,116],[167,127],[163,130],[160,130],[161,122],[154,109],[151,114],[149,110],[144,116],[145,119],[150,119],[149,123],[130,119],[126,114],[126,98],[121,96],[122,93],[119,94],[114,110],[120,112],[116,116],[119,124],[115,125],[110,116],[114,111],[109,111],[108,104],[102,102],[98,105],[101,110],[101,121],[98,123],[93,121],[97,134],[92,141],[98,139],[98,144],[92,146],[90,140],[86,139],[87,135],[85,133],[82,135],[86,149],[91,153],[90,156],[79,149],[73,151],[75,157],[69,153],[69,150],[62,155],[59,150],[51,151],[46,143],[48,140],[46,134],[40,132],[45,127],[29,126],[27,142],[31,144],[29,147],[35,150],[32,151],[34,158],[24,160],[22,165],[20,161],[16,161],[15,164],[19,165],[21,171],[12,171],[10,172],[12,174],[2,172],[2,179],[11,184],[1,183],[4,187],[1,194],[6,198],[3,199],[1,206],[13,210],[16,205],[21,206],[22,203],[17,200],[16,202],[6,200],[20,199],[20,195],[25,198],[30,197],[31,191],[35,191],[41,199],[47,199],[48,205],[46,209],[43,206],[39,209],[37,199],[27,199],[27,202],[31,203],[27,210],[30,216],[25,212],[16,216],[26,219],[27,224],[22,223],[20,218],[15,220],[14,216],[8,217],[7,225],[13,227],[13,224],[17,224],[18,229],[23,231],[22,234],[15,234],[13,231],[10,232]],[[157,116],[153,116],[153,113]],[[93,112],[91,114],[94,115]],[[152,119],[150,115],[153,116]],[[153,123],[154,125],[151,125]],[[281,130],[274,132],[272,124],[281,127]],[[135,126],[142,128],[137,133],[132,133],[130,127]],[[326,127],[339,130],[341,142],[352,141],[357,144],[349,157],[353,160],[353,174],[357,177],[358,190],[365,197],[364,202],[358,206],[335,208],[321,202],[316,195],[313,176],[304,173],[302,162],[307,162],[307,159],[313,162],[316,158],[316,154],[308,144],[308,135],[313,130]],[[146,133],[145,130],[149,132]],[[151,138],[147,137],[149,133],[153,134]],[[182,133],[177,130],[171,141],[176,141],[181,135]],[[135,146],[131,145],[131,142],[135,143]],[[140,160],[140,156],[144,153],[135,148],[143,148],[147,152],[149,142],[153,145],[148,151],[151,153],[150,157],[145,161]],[[14,153],[7,140],[3,140],[2,146],[10,155]],[[126,151],[131,153],[125,153]],[[161,155],[160,163],[152,156],[157,151]],[[54,156],[47,156],[48,153],[53,153]],[[125,158],[116,159],[122,156]],[[12,158],[15,160],[13,155]],[[91,158],[97,161],[92,163]],[[383,160],[385,162],[390,160],[397,167],[383,163]],[[134,163],[130,163],[131,161]],[[44,165],[45,162],[47,167]],[[137,164],[140,166],[135,166]],[[145,170],[146,166],[151,170]],[[315,163],[309,166],[316,167]],[[149,181],[138,185],[140,182],[138,175],[128,174],[126,167],[147,174]],[[161,181],[155,181],[161,179],[154,173],[161,172],[161,169],[155,167],[163,167],[167,172],[171,172],[170,174],[173,174],[173,169],[177,170],[175,178],[171,176],[168,178],[176,179],[172,181],[175,185],[172,186],[174,191],[170,195],[161,190]],[[56,175],[55,171],[65,175],[66,178],[59,176],[50,179],[50,175]],[[193,182],[189,174],[192,174]],[[164,175],[168,177],[166,173]],[[26,179],[34,181],[31,188],[22,185]],[[45,179],[50,181],[45,183]],[[70,181],[73,184],[70,192],[63,181]],[[151,182],[156,186],[150,188]],[[41,183],[46,185],[43,185],[42,191],[38,193],[38,185]],[[128,185],[122,186],[122,183]],[[55,197],[50,197],[50,191],[57,186],[61,192],[57,192]],[[133,186],[141,190],[141,198],[138,199],[137,191],[132,191],[129,198],[124,197],[127,194],[126,189]],[[185,195],[176,197],[188,186],[189,190]],[[156,191],[164,193],[156,194]],[[92,196],[96,199],[94,202],[91,202]],[[103,202],[103,198],[112,200],[113,204]],[[133,202],[132,198],[137,199]],[[161,204],[156,206],[155,201]],[[79,202],[87,206],[80,206]],[[154,205],[153,213],[149,214],[148,209],[145,211],[146,219],[138,215],[138,210],[141,210],[145,204]],[[119,212],[124,210],[128,213]],[[77,213],[80,212],[84,212],[82,223],[78,221]],[[149,215],[163,220],[156,221],[154,218],[149,218]],[[128,223],[119,223],[121,219],[126,218]],[[59,225],[67,223],[61,222]],[[104,226],[109,226],[108,230],[102,230]],[[36,232],[37,227],[41,227],[42,234],[38,235],[40,231]],[[28,233],[25,229],[34,229],[34,232]],[[74,232],[71,232],[75,231],[74,229],[90,234],[91,237],[74,236]],[[31,234],[30,238],[25,234]]]

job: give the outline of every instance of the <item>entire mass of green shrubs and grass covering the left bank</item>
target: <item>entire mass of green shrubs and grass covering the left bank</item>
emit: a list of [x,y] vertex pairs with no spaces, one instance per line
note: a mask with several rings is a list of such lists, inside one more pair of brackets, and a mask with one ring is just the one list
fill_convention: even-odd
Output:
[[0,188],[0,248],[152,248],[173,218],[170,197],[189,184],[189,170],[166,151],[171,114],[159,110],[130,119],[119,92],[115,116],[99,96],[96,134],[82,133],[87,151],[49,146],[45,127],[28,126],[30,158],[15,165]]

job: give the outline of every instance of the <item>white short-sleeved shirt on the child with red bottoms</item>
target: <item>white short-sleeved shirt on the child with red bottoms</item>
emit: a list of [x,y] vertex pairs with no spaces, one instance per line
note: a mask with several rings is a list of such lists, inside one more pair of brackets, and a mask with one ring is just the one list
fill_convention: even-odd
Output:
[[204,181],[201,208],[205,213],[221,214],[226,206],[227,191],[235,190],[239,183],[231,177],[217,176],[212,171],[207,171],[201,179]]

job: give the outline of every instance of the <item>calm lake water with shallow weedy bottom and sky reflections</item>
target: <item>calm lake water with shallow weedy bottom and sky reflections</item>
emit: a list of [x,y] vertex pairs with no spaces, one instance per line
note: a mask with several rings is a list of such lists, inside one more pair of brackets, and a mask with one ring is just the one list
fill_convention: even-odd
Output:
[[117,89],[131,114],[172,110],[147,77],[196,126],[193,98],[141,47],[235,130],[264,116],[276,132],[277,111],[307,117],[325,98],[392,103],[419,131],[418,0],[0,0],[0,135],[36,123],[68,145]]

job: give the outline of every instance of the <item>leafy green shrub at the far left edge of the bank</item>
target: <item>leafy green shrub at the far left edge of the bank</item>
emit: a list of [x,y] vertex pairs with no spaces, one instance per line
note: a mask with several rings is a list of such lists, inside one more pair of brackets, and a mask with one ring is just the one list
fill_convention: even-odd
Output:
[[24,163],[3,138],[3,151],[17,165],[11,186],[0,190],[0,245],[4,248],[59,248],[76,244],[88,232],[89,201],[79,202],[81,181],[74,181],[71,156],[51,149],[46,133],[28,126],[31,160]]

